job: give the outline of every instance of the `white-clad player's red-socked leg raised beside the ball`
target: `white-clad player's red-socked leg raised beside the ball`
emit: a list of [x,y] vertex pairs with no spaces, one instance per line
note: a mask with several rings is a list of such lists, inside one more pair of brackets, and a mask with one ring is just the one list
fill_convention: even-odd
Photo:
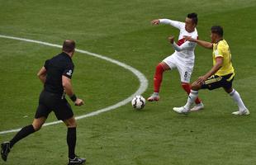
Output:
[[154,73],[154,93],[148,98],[148,101],[159,101],[159,91],[163,80],[163,73],[169,69],[170,67],[165,62],[161,62],[156,66]]

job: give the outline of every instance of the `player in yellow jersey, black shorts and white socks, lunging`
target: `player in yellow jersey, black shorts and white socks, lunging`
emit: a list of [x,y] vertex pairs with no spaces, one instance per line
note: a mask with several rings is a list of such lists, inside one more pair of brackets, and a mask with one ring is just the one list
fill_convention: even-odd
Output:
[[209,89],[213,90],[223,87],[225,92],[230,94],[230,97],[239,106],[239,111],[234,111],[233,115],[249,115],[249,110],[244,106],[239,92],[236,92],[232,87],[232,82],[235,77],[235,70],[232,66],[230,47],[223,39],[223,29],[221,26],[211,27],[211,43],[204,40],[185,37],[186,40],[196,42],[198,45],[207,49],[213,50],[213,67],[204,76],[201,76],[197,81],[192,83],[192,90],[187,98],[187,104],[182,107],[174,107],[173,111],[178,113],[188,113],[195,99],[198,96],[198,90]]

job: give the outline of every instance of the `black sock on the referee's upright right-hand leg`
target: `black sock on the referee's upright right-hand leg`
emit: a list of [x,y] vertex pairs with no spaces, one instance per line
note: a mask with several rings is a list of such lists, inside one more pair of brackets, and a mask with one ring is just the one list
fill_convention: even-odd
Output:
[[74,128],[68,128],[68,134],[67,134],[67,144],[69,146],[69,158],[74,158],[75,153],[75,145],[77,142],[77,129]]

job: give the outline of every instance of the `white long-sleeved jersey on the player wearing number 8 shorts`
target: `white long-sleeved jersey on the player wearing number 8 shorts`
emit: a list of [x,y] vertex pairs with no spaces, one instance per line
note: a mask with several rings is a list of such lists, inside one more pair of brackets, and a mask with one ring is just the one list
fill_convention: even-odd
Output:
[[187,35],[187,36],[191,36],[194,39],[197,39],[198,38],[197,29],[189,33],[185,29],[184,22],[172,21],[169,19],[160,19],[159,21],[160,23],[168,24],[179,29],[180,32],[178,36],[178,42],[173,43],[175,54],[177,54],[180,58],[184,59],[184,62],[194,63],[194,59],[195,59],[194,50],[197,46],[197,43],[184,40],[184,36]]

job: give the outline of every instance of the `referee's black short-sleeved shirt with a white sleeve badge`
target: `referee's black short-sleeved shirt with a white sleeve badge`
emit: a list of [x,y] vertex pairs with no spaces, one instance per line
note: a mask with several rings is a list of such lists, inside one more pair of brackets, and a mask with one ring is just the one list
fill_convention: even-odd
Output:
[[72,78],[73,61],[69,54],[62,52],[52,59],[45,61],[45,69],[47,71],[45,81],[45,91],[62,95],[64,87],[62,86],[62,76]]

